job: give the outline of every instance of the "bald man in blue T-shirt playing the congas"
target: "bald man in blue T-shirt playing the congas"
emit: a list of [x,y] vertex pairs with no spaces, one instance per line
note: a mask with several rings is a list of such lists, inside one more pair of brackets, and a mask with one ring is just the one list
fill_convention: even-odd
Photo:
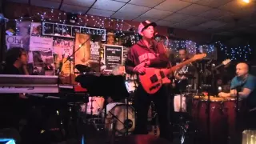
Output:
[[[254,129],[256,125],[256,77],[249,74],[249,66],[246,63],[238,63],[236,74],[231,81],[230,93],[219,93],[220,97],[236,97],[245,100],[249,113],[246,114],[246,128]],[[239,90],[241,89],[241,90]],[[239,90],[239,91],[237,91]]]

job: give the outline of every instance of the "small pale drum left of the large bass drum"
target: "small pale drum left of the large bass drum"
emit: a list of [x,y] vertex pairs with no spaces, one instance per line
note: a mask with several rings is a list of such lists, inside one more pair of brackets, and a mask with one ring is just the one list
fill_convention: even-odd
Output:
[[82,112],[86,114],[98,115],[101,113],[105,99],[103,97],[89,97],[89,102],[82,105]]

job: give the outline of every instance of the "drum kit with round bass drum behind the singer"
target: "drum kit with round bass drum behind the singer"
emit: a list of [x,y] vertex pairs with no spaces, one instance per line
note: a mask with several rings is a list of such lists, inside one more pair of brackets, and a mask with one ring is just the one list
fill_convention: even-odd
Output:
[[[112,74],[119,74],[115,70],[121,69],[114,68]],[[136,75],[121,75],[125,77],[125,86],[129,93],[125,101],[108,103],[103,96],[90,96],[89,102],[82,103],[79,110],[86,124],[93,124],[96,130],[105,131],[109,137],[130,135],[135,129],[134,91],[138,86],[138,78]],[[154,118],[156,118],[156,112],[152,102],[148,111],[148,121],[153,122]],[[152,126],[149,132],[154,135],[159,134],[158,127]]]

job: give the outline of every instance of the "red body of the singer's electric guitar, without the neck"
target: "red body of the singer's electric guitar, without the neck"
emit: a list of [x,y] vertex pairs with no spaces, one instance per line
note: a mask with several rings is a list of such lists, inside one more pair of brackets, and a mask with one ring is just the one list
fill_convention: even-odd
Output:
[[155,94],[163,84],[170,83],[170,79],[166,77],[166,70],[146,68],[146,74],[138,76],[143,89],[148,94]]

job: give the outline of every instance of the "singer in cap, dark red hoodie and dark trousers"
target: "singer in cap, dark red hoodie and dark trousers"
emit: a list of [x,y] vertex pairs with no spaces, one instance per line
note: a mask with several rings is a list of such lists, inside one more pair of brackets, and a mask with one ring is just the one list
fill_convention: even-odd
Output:
[[[154,22],[141,22],[138,26],[138,34],[142,39],[132,46],[126,59],[127,74],[145,74],[145,67],[166,68],[169,66],[168,58],[162,43],[154,41]],[[167,86],[162,86],[155,94],[147,94],[139,84],[134,92],[135,109],[137,110],[136,127],[134,134],[148,134],[147,114],[151,100],[154,101],[158,113],[160,137],[171,141],[168,114],[168,93]]]

